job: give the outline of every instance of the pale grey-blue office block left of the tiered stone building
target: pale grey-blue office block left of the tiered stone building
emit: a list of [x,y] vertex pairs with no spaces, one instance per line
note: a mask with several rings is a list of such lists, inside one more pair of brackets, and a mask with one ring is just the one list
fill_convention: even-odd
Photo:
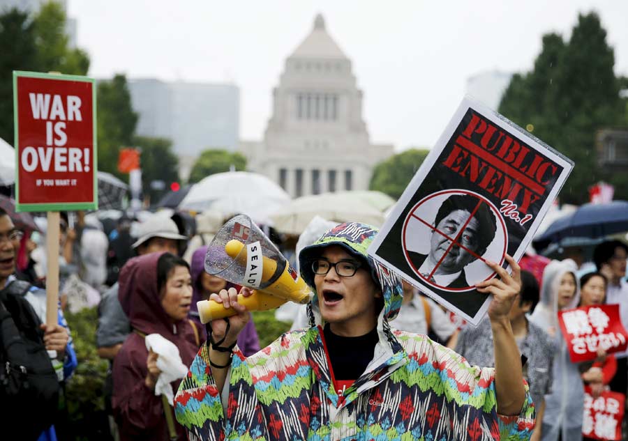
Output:
[[203,150],[234,151],[240,130],[240,91],[234,84],[163,82],[129,79],[135,132],[172,141],[179,156],[179,176],[186,180]]

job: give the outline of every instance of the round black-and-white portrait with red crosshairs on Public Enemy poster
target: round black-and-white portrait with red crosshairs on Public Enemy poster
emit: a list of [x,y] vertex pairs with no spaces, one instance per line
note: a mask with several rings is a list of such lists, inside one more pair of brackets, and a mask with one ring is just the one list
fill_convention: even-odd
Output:
[[[436,212],[435,217],[433,212]],[[474,194],[444,194],[429,203],[417,204],[410,216],[409,223],[424,227],[423,240],[419,235],[412,238],[412,234],[408,234],[412,231],[411,225],[406,229],[406,256],[419,277],[450,289],[469,288],[481,280],[479,277],[483,277],[486,270],[468,277],[466,268],[476,261],[483,263],[483,256],[498,231],[497,219],[486,201]],[[425,242],[426,234],[429,243],[417,244],[417,241]],[[496,247],[491,251],[496,251]],[[486,258],[501,260],[494,252],[490,254],[492,256]]]

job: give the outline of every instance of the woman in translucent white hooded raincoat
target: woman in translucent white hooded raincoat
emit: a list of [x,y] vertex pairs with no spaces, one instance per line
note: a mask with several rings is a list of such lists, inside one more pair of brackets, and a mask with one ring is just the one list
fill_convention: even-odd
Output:
[[580,287],[576,263],[571,259],[552,261],[543,272],[541,301],[530,321],[542,327],[556,344],[553,359],[551,392],[545,396],[541,426],[542,441],[582,440],[584,387],[578,364],[569,359],[567,343],[558,325],[558,311],[578,306]]

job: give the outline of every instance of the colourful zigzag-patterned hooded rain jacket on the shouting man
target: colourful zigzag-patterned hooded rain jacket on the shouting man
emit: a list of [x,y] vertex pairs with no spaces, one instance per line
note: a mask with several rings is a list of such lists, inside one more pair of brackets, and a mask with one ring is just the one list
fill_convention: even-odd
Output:
[[[382,286],[384,309],[371,364],[338,396],[322,327],[283,334],[259,353],[236,351],[228,384],[216,388],[203,346],[175,399],[190,440],[528,440],[534,406],[526,394],[521,414],[497,413],[493,369],[470,366],[427,336],[394,331],[388,319],[401,305],[401,281],[366,257],[377,232],[343,224],[322,236],[320,246],[342,245],[368,260]],[[301,263],[301,268],[308,265]],[[301,273],[308,284],[313,274]],[[313,299],[314,319],[317,299]],[[523,379],[522,379],[523,381]],[[527,386],[526,386],[527,390]]]

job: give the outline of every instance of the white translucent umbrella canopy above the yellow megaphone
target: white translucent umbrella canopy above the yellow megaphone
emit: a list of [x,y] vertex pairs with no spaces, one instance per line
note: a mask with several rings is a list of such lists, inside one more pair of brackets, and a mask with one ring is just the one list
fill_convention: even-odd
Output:
[[223,217],[244,213],[260,224],[271,224],[270,214],[290,203],[290,196],[266,176],[227,171],[207,176],[193,185],[180,210],[213,210]]

